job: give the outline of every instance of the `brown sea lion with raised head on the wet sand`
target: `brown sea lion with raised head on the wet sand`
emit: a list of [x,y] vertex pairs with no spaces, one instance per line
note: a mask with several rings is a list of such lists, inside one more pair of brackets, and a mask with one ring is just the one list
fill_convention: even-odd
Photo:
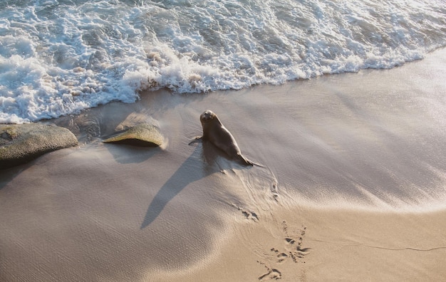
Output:
[[[202,139],[211,142],[215,147],[225,152],[229,157],[237,160],[244,165],[254,165],[256,163],[251,162],[242,155],[239,145],[235,141],[234,136],[227,130],[226,127],[219,120],[212,110],[206,110],[199,116],[199,120],[202,122],[203,136],[195,137],[195,140],[190,142],[192,144],[196,140]],[[261,164],[256,164],[262,167]]]

